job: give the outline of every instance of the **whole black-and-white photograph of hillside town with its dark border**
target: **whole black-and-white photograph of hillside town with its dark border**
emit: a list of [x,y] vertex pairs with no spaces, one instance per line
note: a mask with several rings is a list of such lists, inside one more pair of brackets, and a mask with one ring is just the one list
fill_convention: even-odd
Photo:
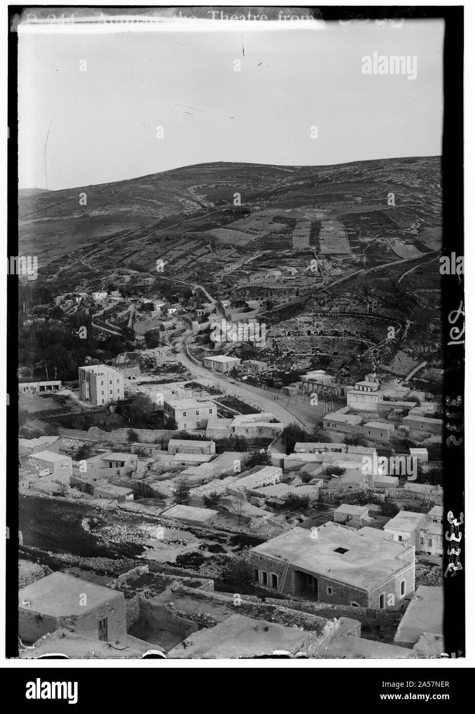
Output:
[[465,657],[464,8],[378,10],[9,6],[7,657]]

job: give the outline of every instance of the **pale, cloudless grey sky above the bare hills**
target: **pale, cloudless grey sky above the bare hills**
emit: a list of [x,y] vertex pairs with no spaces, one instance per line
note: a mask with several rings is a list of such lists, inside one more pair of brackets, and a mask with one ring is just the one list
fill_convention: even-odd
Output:
[[[48,131],[53,190],[213,161],[441,154],[443,21],[194,24],[20,28],[19,188],[46,188]],[[415,79],[363,74],[374,52],[416,56]]]

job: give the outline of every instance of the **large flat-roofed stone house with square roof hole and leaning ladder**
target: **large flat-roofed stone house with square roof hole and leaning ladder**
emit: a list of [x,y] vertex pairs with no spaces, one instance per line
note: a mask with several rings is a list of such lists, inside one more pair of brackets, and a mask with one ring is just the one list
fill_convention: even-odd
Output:
[[249,553],[256,581],[279,593],[384,609],[414,592],[414,546],[375,528],[293,528]]

